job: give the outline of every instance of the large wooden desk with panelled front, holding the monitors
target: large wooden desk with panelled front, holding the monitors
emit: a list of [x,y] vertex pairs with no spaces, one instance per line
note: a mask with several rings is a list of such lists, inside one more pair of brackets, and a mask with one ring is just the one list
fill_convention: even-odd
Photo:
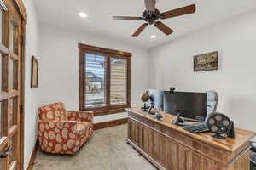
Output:
[[235,129],[236,139],[212,133],[189,133],[172,124],[176,116],[161,112],[161,121],[138,108],[127,109],[128,139],[155,167],[168,170],[249,170],[249,140],[256,133]]

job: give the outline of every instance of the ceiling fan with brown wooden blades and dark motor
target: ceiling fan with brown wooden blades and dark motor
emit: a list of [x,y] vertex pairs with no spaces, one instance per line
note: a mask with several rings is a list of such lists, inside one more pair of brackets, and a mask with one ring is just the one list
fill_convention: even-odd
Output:
[[132,35],[132,37],[137,37],[140,33],[148,26],[153,25],[156,26],[160,31],[164,32],[166,35],[172,34],[173,30],[166,26],[159,20],[169,19],[177,16],[181,16],[184,14],[193,14],[195,13],[195,4],[183,7],[176,8],[170,11],[166,11],[165,13],[160,13],[160,10],[155,8],[155,0],[144,0],[146,10],[143,12],[142,17],[132,17],[132,16],[113,16],[113,20],[145,20],[142,26],[140,26],[137,31]]

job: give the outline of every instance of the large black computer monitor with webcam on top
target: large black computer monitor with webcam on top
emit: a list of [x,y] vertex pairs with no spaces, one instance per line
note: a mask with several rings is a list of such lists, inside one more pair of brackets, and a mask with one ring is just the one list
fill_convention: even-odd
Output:
[[183,111],[183,118],[204,122],[207,116],[207,94],[191,92],[165,92],[164,111],[177,116],[177,111]]

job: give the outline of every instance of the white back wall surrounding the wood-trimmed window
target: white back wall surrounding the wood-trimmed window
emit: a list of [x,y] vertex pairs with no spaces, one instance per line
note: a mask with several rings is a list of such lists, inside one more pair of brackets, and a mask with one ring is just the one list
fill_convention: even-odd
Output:
[[[67,110],[79,110],[78,43],[131,52],[131,105],[141,105],[139,94],[148,88],[148,52],[109,38],[66,31],[51,26],[40,27],[40,102],[63,102]],[[126,114],[97,116],[96,122],[125,117]]]

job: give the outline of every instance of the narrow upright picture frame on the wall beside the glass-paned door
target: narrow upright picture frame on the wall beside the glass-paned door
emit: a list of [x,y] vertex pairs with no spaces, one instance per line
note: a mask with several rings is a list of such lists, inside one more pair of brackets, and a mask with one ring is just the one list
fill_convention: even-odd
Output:
[[31,67],[31,88],[38,88],[38,59],[32,56],[32,67]]

